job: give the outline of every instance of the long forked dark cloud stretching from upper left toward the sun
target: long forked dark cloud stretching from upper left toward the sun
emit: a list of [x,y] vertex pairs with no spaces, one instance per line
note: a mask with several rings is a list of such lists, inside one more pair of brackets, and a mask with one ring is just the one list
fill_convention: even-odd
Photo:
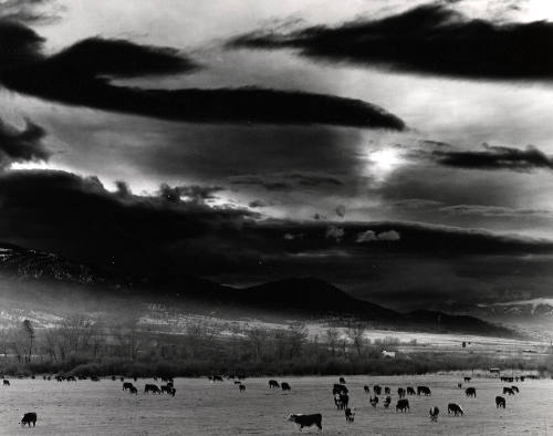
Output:
[[270,89],[149,90],[116,86],[108,77],[189,73],[197,64],[173,49],[88,39],[46,56],[32,30],[0,22],[0,82],[45,100],[174,121],[331,124],[401,131],[397,116],[369,103]]

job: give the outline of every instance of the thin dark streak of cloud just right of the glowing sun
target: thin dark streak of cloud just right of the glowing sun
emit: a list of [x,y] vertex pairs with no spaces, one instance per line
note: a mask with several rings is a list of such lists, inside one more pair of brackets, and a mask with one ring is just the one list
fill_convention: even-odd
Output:
[[524,149],[490,146],[483,150],[434,150],[431,156],[441,165],[468,169],[510,169],[530,172],[532,169],[553,169],[553,158],[542,150],[526,146]]

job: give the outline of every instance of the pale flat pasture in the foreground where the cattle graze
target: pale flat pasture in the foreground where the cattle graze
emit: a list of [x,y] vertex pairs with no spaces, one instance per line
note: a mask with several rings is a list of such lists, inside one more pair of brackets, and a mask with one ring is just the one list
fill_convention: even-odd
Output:
[[[517,383],[520,394],[507,397],[507,409],[497,409],[495,395],[504,383],[493,378],[474,378],[477,398],[457,388],[460,375],[347,377],[349,405],[356,407],[356,419],[346,424],[343,412],[332,398],[337,377],[286,377],[290,394],[269,390],[268,377],[244,381],[240,394],[231,381],[210,383],[206,378],[176,378],[176,397],[144,394],[138,380],[138,395],[122,392],[122,383],[79,381],[45,382],[11,380],[0,388],[1,435],[292,435],[298,428],[286,422],[290,413],[323,414],[326,435],[546,435],[553,430],[553,381]],[[282,378],[281,381],[284,381]],[[363,385],[380,384],[392,388],[389,409],[380,403],[373,408]],[[428,385],[429,397],[410,396],[410,412],[396,413],[397,387]],[[467,384],[468,386],[469,384]],[[463,417],[447,416],[447,404],[462,405]],[[428,409],[439,406],[438,423],[430,423]],[[33,429],[19,426],[24,412],[39,415]],[[305,429],[304,429],[305,432]],[[314,427],[310,433],[316,433]]]

